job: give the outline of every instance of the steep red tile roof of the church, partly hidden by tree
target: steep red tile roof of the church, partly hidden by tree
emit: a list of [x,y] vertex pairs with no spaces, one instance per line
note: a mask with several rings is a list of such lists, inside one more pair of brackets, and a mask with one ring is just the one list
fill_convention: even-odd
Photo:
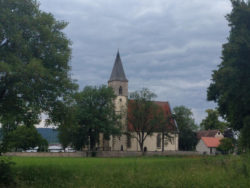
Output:
[[[163,109],[163,113],[166,117],[172,115],[170,105],[168,102],[163,102],[163,101],[153,101],[153,102]],[[130,114],[129,112],[132,111],[132,105],[131,105],[132,103],[133,103],[133,100],[128,101],[128,115]],[[174,132],[177,131],[177,125],[176,125],[176,122],[174,121],[174,119],[171,119],[170,122],[171,123],[166,124],[167,129],[169,131],[174,131]],[[133,125],[130,122],[128,122],[128,130],[133,131]],[[158,127],[155,127],[154,131],[160,132]]]

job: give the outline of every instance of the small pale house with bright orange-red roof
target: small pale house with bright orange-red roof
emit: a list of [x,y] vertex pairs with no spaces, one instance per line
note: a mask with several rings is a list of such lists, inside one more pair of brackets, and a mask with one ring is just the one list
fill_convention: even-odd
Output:
[[217,147],[220,145],[222,138],[214,137],[201,137],[196,145],[196,151],[201,154],[214,155],[216,154]]

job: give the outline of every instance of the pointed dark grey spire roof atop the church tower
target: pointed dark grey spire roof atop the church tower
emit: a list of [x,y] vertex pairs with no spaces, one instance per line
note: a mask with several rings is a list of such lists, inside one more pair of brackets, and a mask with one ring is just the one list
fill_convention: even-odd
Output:
[[117,51],[113,70],[112,70],[112,73],[110,75],[109,82],[111,82],[111,81],[125,81],[125,82],[128,81],[126,78],[126,75],[124,73],[124,70],[123,70],[119,50]]

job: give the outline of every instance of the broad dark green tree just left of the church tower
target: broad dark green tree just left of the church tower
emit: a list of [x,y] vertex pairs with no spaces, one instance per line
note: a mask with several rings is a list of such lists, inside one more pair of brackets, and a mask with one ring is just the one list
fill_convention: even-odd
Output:
[[[116,114],[112,88],[86,86],[75,96],[75,103],[64,109],[59,126],[59,140],[65,146],[72,144],[80,150],[90,145],[95,149],[100,134],[106,140],[120,134],[120,115]],[[67,114],[67,115],[66,115]]]

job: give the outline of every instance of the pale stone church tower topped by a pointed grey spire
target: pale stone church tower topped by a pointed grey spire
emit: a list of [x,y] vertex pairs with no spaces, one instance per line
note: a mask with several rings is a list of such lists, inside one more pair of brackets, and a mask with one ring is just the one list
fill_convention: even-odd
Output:
[[[127,131],[127,102],[128,102],[128,79],[123,70],[119,51],[116,54],[115,63],[108,81],[108,86],[113,88],[116,95],[115,110],[122,115],[121,131]],[[127,139],[125,136],[112,138],[112,150],[125,150]]]

